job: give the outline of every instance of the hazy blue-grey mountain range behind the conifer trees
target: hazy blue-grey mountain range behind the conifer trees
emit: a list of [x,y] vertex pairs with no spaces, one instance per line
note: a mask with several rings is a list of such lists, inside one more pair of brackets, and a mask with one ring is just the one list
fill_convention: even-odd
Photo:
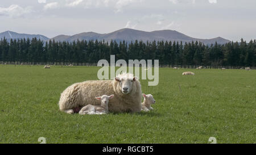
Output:
[[10,39],[23,39],[23,38],[30,38],[32,39],[33,37],[36,37],[37,39],[41,39],[43,41],[48,41],[48,40],[55,40],[55,41],[76,41],[76,40],[105,40],[105,41],[111,41],[115,40],[119,43],[119,41],[135,41],[135,40],[142,40],[142,41],[183,41],[183,43],[187,42],[192,42],[192,41],[200,41],[201,43],[204,44],[214,44],[217,42],[218,44],[225,44],[229,43],[230,40],[224,39],[222,37],[215,37],[212,39],[197,39],[194,37],[190,37],[187,35],[184,35],[183,33],[173,31],[173,30],[159,30],[159,31],[151,31],[151,32],[146,32],[146,31],[139,31],[139,30],[133,30],[130,28],[123,28],[118,31],[114,31],[111,33],[95,33],[95,32],[83,32],[83,33],[78,33],[76,35],[68,36],[68,35],[58,35],[55,36],[51,39],[49,39],[46,36],[43,35],[28,35],[24,33],[16,33],[12,31],[5,31],[0,33],[0,38],[6,37],[7,40]]

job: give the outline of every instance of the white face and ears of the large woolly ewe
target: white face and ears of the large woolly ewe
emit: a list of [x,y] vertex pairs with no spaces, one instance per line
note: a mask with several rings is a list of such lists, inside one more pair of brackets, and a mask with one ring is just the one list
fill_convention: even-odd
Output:
[[137,80],[137,77],[115,77],[115,81],[118,82],[118,87],[123,94],[129,94],[133,89],[133,84]]

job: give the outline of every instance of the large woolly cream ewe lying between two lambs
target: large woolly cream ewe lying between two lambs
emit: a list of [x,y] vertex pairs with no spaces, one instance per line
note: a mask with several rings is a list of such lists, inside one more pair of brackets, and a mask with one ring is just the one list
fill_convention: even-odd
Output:
[[141,83],[131,73],[119,74],[113,80],[85,81],[67,87],[60,95],[60,111],[73,114],[72,108],[100,105],[95,97],[104,94],[115,96],[109,101],[110,112],[141,111]]

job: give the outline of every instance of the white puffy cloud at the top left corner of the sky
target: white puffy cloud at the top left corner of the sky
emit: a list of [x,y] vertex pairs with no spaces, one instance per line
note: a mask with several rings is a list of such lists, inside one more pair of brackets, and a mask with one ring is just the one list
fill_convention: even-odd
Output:
[[28,14],[31,12],[31,7],[20,7],[18,5],[11,5],[7,8],[0,7],[0,16],[10,16],[11,18],[16,18]]

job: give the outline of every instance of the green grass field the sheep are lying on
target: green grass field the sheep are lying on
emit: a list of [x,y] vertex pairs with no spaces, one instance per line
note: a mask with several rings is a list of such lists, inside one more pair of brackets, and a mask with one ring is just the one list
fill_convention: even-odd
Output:
[[[159,69],[153,111],[69,115],[60,93],[97,67],[0,66],[0,143],[256,143],[256,71]],[[182,76],[184,71],[195,76]],[[179,84],[178,84],[179,83]],[[179,87],[180,86],[180,87]]]

